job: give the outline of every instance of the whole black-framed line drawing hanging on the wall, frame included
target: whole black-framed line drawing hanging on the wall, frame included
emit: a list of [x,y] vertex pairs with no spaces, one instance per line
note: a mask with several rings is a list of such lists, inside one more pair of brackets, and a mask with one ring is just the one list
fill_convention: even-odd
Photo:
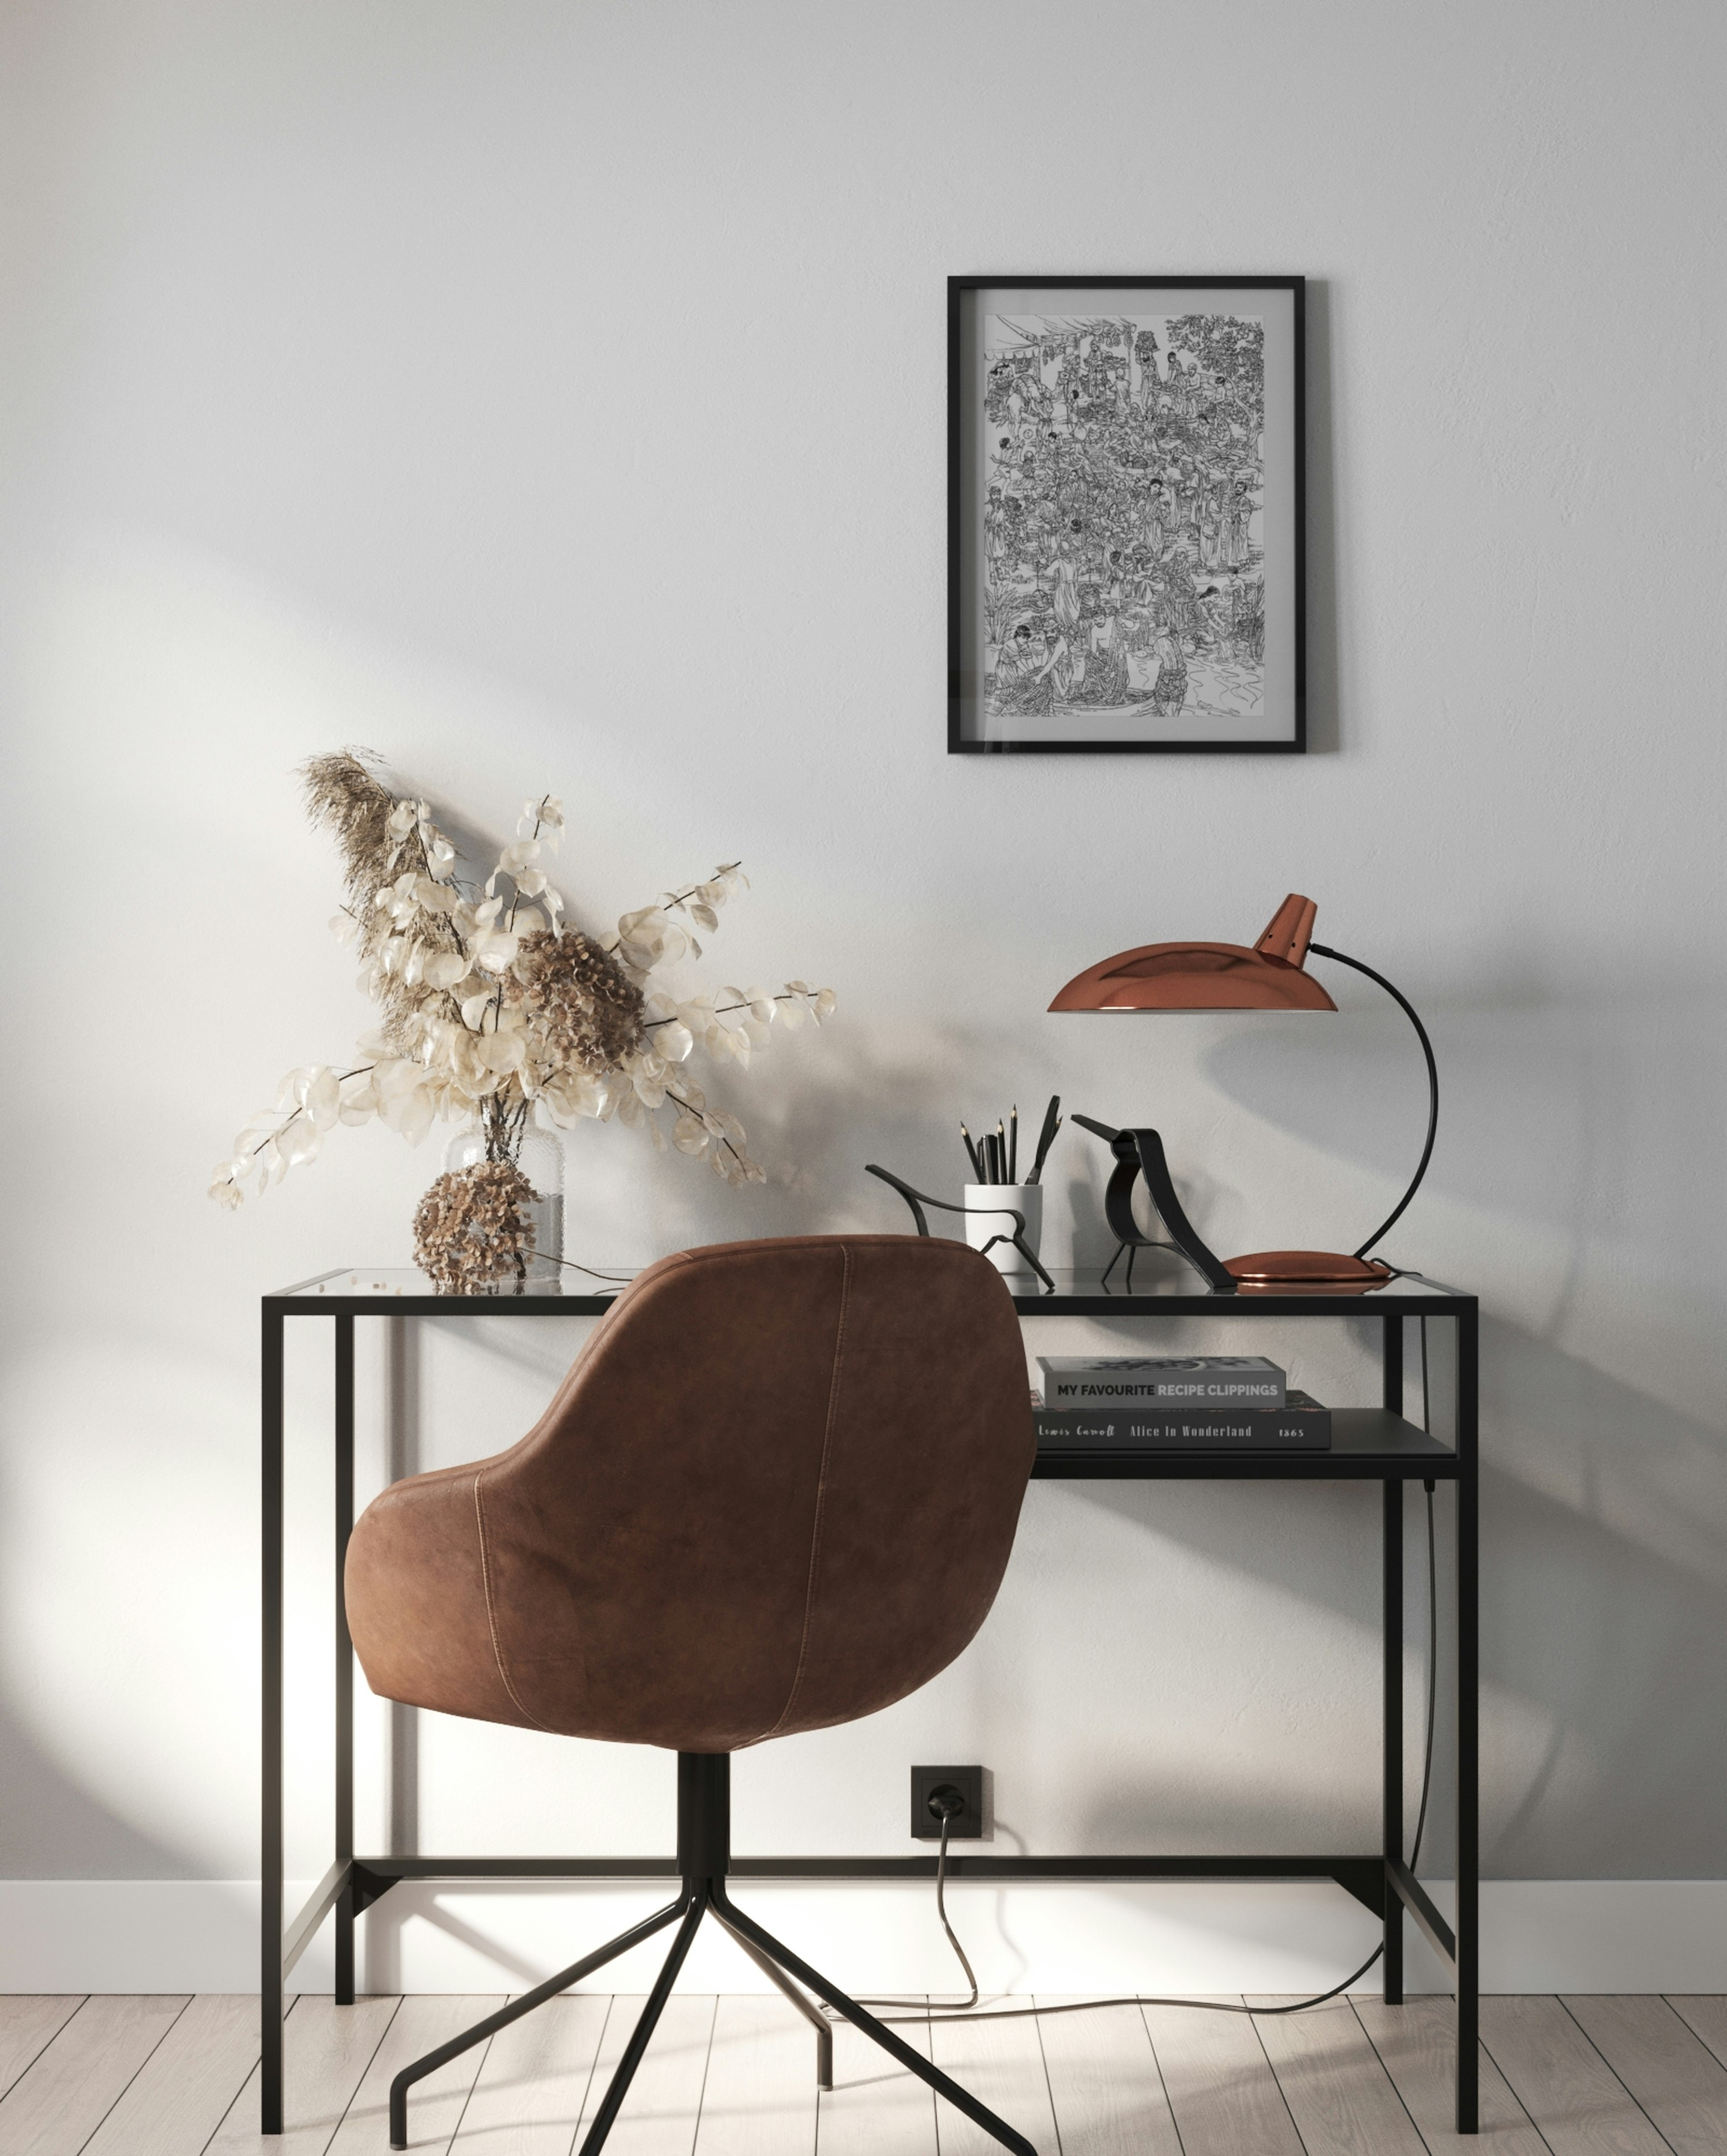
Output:
[[953,755],[1302,755],[1302,302],[949,278]]

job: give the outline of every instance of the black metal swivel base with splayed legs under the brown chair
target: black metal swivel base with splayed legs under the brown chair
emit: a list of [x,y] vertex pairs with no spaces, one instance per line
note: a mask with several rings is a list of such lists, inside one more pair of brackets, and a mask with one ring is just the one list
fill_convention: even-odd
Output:
[[998,2119],[994,2111],[979,2104],[975,2096],[968,2096],[957,2081],[949,2081],[947,2074],[912,2050],[910,2044],[903,2044],[893,2029],[884,2029],[873,2014],[867,2014],[858,2005],[856,1999],[847,1999],[845,1992],[837,1990],[824,1975],[819,1975],[819,1971],[800,1962],[789,1947],[783,1947],[770,1932],[763,1932],[761,1925],[752,1917],[746,1917],[742,1908],[733,1908],[727,1897],[729,1865],[731,1753],[679,1753],[677,1871],[683,1884],[677,1899],[671,1908],[662,1908],[634,1930],[621,1932],[584,1960],[571,1962],[569,1968],[561,1968],[556,1977],[548,1977],[545,1984],[539,1984],[535,1990],[524,1992],[520,1999],[511,1999],[507,2007],[500,2007],[496,2014],[487,2014],[483,2022],[474,2022],[472,2029],[464,2029],[461,2035],[453,2035],[448,2044],[440,2044],[438,2050],[429,2050],[425,2059],[416,2059],[412,2065],[405,2065],[390,2083],[390,2147],[407,2147],[407,2091],[416,2081],[425,2081],[427,2074],[436,2074],[448,2059],[457,2059],[464,2050],[472,2050],[474,2044],[483,2044],[498,2029],[507,2029],[524,2014],[533,2014],[533,2009],[545,2005],[548,1999],[556,1999],[556,1994],[567,1990],[571,1984],[580,1984],[582,1977],[591,1977],[595,1968],[604,1968],[606,1962],[617,1960],[619,1953],[625,1953],[630,1947],[638,1947],[645,1938],[653,1938],[655,1932],[664,1932],[668,1923],[675,1923],[677,1938],[666,1955],[666,1966],[660,1971],[653,1981],[653,1990],[647,1994],[640,2020],[630,2031],[630,2042],[623,2046],[623,2057],[617,2063],[610,2087],[606,2089],[599,2111],[593,2115],[593,2126],[589,2126],[586,2139],[578,2150],[578,2156],[595,2156],[595,2152],[606,2145],[606,2137],[610,2134],[623,2106],[623,2098],[630,2093],[630,2083],[636,2078],[636,2068],[643,2063],[653,2029],[666,2009],[671,1988],[677,1981],[677,1971],[683,1966],[683,1955],[690,1951],[690,1943],[701,1930],[701,1919],[711,1915],[714,1921],[737,1940],[757,1968],[765,1977],[772,1977],[804,2020],[815,2027],[815,2081],[819,2087],[832,2089],[834,2085],[834,2037],[826,2016],[821,2016],[809,2003],[804,1992],[798,1990],[800,1984],[809,1986],[817,1999],[824,1999],[834,2014],[843,2014],[845,2020],[849,2020],[854,2029],[860,2029],[873,2044],[880,2044],[890,2059],[897,2059],[908,2072],[927,2081],[938,2096],[944,2096],[955,2111],[964,2111],[975,2126],[981,2126],[983,2132],[990,2134],[992,2141],[998,2141],[1005,2150],[1018,2150],[1018,2156],[1037,2156],[1024,2134],[1016,2134],[1005,2119]]

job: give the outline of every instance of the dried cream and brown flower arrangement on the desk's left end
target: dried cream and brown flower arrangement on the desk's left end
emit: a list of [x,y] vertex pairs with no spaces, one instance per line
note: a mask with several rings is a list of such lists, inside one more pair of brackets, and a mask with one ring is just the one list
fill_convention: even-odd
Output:
[[[362,755],[313,757],[302,776],[313,824],[334,834],[343,856],[345,903],[330,927],[358,946],[360,985],[379,1007],[379,1026],[360,1041],[364,1061],[351,1069],[319,1063],[287,1074],[276,1108],[254,1117],[218,1162],[213,1199],[239,1205],[250,1179],[267,1190],[315,1160],[336,1123],[377,1117],[418,1143],[436,1117],[472,1119],[485,1134],[485,1162],[440,1177],[420,1205],[425,1233],[416,1227],[416,1255],[433,1261],[427,1270],[464,1281],[520,1270],[522,1227],[511,1227],[520,1192],[481,1171],[513,1169],[537,1108],[563,1128],[582,1117],[643,1125],[658,1151],[671,1145],[707,1160],[733,1188],[765,1179],[744,1125],[709,1108],[683,1065],[705,1048],[716,1063],[748,1069],[776,1018],[819,1022],[834,992],[787,981],[776,992],[727,987],[716,1003],[655,981],[701,957],[692,929],[718,929],[718,910],[746,884],[737,862],[625,914],[617,936],[586,936],[563,925],[563,899],[541,867],[563,837],[554,796],[524,804],[515,843],[481,888],[457,875],[457,849],[427,804],[397,798]],[[662,1108],[673,1115],[671,1134]],[[485,1190],[457,1197],[446,1186],[461,1177]],[[526,1190],[520,1171],[515,1181]]]

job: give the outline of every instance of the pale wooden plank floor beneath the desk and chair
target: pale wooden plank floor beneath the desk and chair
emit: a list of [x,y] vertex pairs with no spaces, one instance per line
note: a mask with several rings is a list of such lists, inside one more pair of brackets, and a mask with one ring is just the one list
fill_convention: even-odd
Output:
[[[0,2156],[373,2156],[390,2076],[498,1999],[304,1996],[289,2132],[257,2132],[257,1999],[0,1996]],[[1048,2001],[1046,2001],[1048,2003]],[[1276,2005],[1255,1999],[1253,2005]],[[420,2083],[416,2150],[569,2156],[638,1999],[554,1999]],[[1113,2007],[936,2027],[936,2061],[1041,2156],[1723,2156],[1727,1999],[1483,1999],[1481,2139],[1451,2117],[1451,2007]],[[910,2033],[910,2031],[906,2031]],[[780,1999],[673,1999],[608,2156],[987,2156],[994,2143]]]

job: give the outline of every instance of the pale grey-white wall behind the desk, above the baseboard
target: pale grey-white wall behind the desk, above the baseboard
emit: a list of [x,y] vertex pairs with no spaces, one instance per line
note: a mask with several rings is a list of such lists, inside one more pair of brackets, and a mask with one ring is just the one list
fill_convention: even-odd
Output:
[[[586,923],[744,856],[714,979],[841,992],[716,1087],[793,1188],[574,1134],[602,1261],[899,1227],[865,1160],[949,1184],[959,1115],[1052,1089],[1156,1119],[1220,1248],[1348,1244],[1419,1132],[1388,1007],[1044,1009],[1311,893],[1445,1069],[1391,1255],[1490,1313],[1486,1865],[1727,1874],[1718,9],[39,0],[0,34],[0,1874],[257,1876],[257,1294],[405,1259],[436,1171],[369,1130],[203,1194],[367,1022],[293,783],[345,742],[492,834],[561,791]],[[1304,761],[942,752],[959,270],[1315,280]],[[1097,1166],[1063,1136],[1056,1257],[1100,1248]],[[377,1350],[375,1475],[507,1442],[574,1337],[425,1326],[395,1395]],[[1371,1397],[1350,1328],[1279,1345]],[[308,1874],[326,1399],[308,1337]],[[1367,1846],[1373,1516],[1035,1490],[970,1654],[746,1761],[740,1843],[901,1850],[947,1755],[1039,1848]],[[653,1757],[390,1742],[379,1833],[668,1841]],[[1067,1947],[1115,1968],[1143,1906]]]

